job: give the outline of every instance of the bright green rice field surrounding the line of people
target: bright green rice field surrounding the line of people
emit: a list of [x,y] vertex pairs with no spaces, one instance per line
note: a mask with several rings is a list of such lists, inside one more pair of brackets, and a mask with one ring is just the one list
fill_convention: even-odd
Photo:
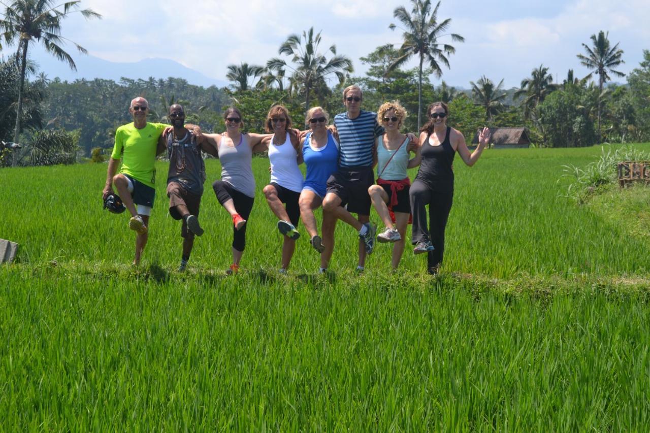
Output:
[[341,222],[328,274],[302,226],[279,274],[263,158],[237,276],[216,160],[185,274],[166,163],[138,268],[105,164],[0,170],[0,430],[647,430],[650,190],[563,196],[562,166],[600,154],[456,158],[435,278],[408,247],[391,272],[387,244],[357,274]]

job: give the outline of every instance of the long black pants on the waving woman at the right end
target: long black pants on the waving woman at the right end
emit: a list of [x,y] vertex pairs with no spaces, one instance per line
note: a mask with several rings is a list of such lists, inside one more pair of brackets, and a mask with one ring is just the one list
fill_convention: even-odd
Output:
[[[428,267],[436,267],[443,263],[445,252],[445,228],[454,192],[435,192],[429,185],[419,179],[413,181],[411,191],[411,211],[413,212],[413,236],[411,243],[431,241],[435,250],[428,253]],[[429,226],[426,226],[426,209],[429,205]]]

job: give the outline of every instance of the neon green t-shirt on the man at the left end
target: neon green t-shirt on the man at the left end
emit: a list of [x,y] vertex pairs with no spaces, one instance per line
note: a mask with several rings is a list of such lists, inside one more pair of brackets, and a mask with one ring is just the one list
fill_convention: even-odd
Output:
[[122,158],[120,173],[128,174],[137,181],[154,187],[156,181],[156,148],[158,138],[169,125],[151,124],[137,129],[133,123],[122,125],[115,131],[112,159]]

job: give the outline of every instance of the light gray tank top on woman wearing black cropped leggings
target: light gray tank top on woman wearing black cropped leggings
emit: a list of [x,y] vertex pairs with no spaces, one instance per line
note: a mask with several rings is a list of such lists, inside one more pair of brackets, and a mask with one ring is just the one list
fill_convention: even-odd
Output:
[[224,146],[224,140],[219,143],[219,159],[221,160],[221,180],[229,183],[242,194],[255,198],[255,177],[251,167],[253,150],[248,144],[248,136],[241,135],[239,144],[235,147]]

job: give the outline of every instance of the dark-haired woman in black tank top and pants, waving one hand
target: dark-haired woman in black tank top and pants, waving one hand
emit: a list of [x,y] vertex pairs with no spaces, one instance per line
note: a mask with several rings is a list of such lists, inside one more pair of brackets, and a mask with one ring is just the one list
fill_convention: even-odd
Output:
[[[460,131],[447,126],[449,110],[445,103],[434,102],[426,112],[429,122],[420,134],[422,163],[409,194],[413,212],[411,243],[415,245],[414,254],[428,253],[428,272],[437,274],[443,261],[445,228],[454,198],[454,156],[458,151],[463,162],[473,166],[489,142],[490,132],[484,128],[476,150],[469,153]],[[426,205],[429,205],[428,227]]]

